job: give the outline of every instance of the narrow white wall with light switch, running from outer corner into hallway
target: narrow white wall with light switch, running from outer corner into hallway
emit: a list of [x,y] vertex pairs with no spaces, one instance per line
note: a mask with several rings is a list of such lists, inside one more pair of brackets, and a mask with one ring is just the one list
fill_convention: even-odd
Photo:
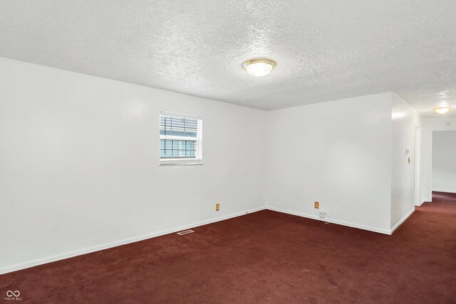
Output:
[[[393,94],[391,146],[391,228],[415,210],[415,125],[418,113]],[[408,150],[408,153],[407,153]],[[408,163],[410,157],[410,164]]]

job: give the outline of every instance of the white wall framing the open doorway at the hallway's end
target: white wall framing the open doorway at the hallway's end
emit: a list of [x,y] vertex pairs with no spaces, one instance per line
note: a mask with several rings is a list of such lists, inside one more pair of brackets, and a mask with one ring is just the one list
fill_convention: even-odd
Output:
[[421,128],[421,203],[432,201],[432,132],[456,130],[456,117],[425,117]]

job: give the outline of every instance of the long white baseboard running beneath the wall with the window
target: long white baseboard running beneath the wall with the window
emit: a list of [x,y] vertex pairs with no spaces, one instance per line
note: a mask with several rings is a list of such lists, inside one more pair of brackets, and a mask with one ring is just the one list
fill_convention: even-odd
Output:
[[127,243],[134,243],[134,242],[137,242],[137,241],[143,241],[145,239],[151,239],[151,238],[154,238],[156,236],[162,236],[162,235],[165,235],[165,234],[172,234],[174,232],[178,232],[178,231],[182,231],[182,230],[186,230],[186,229],[190,229],[190,228],[195,228],[197,226],[203,226],[203,225],[211,224],[211,223],[214,223],[216,221],[223,221],[225,219],[232,219],[232,218],[237,217],[237,216],[242,216],[242,215],[245,215],[245,214],[261,211],[261,210],[264,210],[264,209],[266,209],[266,207],[259,207],[259,208],[250,209],[250,210],[247,210],[247,211],[238,212],[236,214],[229,214],[227,216],[220,216],[220,217],[217,217],[215,219],[209,219],[207,221],[199,221],[199,222],[197,222],[195,224],[190,224],[190,225],[176,227],[176,228],[173,228],[173,229],[167,229],[167,230],[153,232],[152,234],[145,234],[145,235],[142,235],[142,236],[135,236],[135,237],[129,238],[129,239],[123,239],[123,240],[120,240],[120,241],[113,241],[113,242],[110,242],[110,243],[105,243],[105,244],[99,245],[99,246],[93,246],[93,247],[78,249],[76,251],[70,251],[70,252],[67,252],[67,253],[61,253],[61,254],[57,254],[55,256],[48,256],[46,258],[37,258],[36,260],[27,261],[27,262],[24,262],[24,263],[19,263],[19,264],[15,264],[15,265],[11,265],[11,266],[6,266],[4,268],[0,268],[0,275],[4,274],[4,273],[10,273],[12,271],[19,271],[21,269],[30,268],[30,267],[33,267],[33,266],[38,266],[38,265],[41,265],[41,264],[46,264],[46,263],[51,263],[51,262],[55,262],[55,261],[60,261],[60,260],[63,260],[64,258],[72,258],[73,256],[81,256],[81,254],[91,253],[91,252],[100,251],[100,250],[104,250],[104,249],[108,249],[108,248],[113,248],[115,246],[125,245]]

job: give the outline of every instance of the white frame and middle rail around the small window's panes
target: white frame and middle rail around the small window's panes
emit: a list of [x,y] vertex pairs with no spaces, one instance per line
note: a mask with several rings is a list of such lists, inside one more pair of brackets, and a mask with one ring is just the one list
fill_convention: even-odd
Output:
[[[198,127],[197,127],[197,158],[181,158],[181,159],[161,159],[160,158],[160,166],[186,166],[186,165],[199,165],[202,164],[202,117],[197,115],[187,115],[187,114],[180,114],[174,112],[160,112],[161,116],[173,116],[173,117],[183,117],[183,118],[190,118],[197,120]],[[159,130],[160,130],[160,120],[158,122]],[[189,137],[185,136],[170,136],[170,135],[160,135],[159,134],[159,142],[160,140],[189,140]]]

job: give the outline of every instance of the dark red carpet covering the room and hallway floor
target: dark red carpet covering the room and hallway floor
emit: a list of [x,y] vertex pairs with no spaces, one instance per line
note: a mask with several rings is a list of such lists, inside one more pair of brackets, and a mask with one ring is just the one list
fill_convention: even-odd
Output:
[[456,303],[456,194],[435,192],[393,236],[274,211],[194,230],[8,273],[0,300]]

